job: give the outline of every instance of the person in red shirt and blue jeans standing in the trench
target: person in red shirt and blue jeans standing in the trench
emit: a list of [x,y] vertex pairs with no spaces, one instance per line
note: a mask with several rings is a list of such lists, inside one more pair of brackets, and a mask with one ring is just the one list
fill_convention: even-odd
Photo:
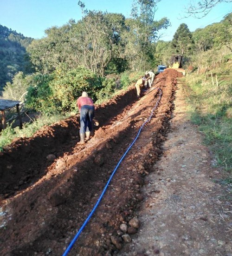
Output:
[[77,106],[80,111],[80,141],[77,144],[84,144],[84,137],[86,135],[86,141],[90,139],[90,133],[92,131],[92,120],[94,118],[94,105],[93,101],[86,92],[82,93],[82,96],[77,99]]

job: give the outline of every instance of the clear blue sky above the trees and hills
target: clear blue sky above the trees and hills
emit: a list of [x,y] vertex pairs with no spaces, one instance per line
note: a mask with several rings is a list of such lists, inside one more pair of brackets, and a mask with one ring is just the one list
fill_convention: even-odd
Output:
[[[83,1],[87,9],[122,13],[129,17],[133,0]],[[155,20],[168,17],[172,25],[161,31],[161,40],[172,40],[181,23],[186,23],[190,31],[194,31],[219,22],[227,13],[232,12],[232,3],[221,3],[202,19],[180,19],[189,2],[190,0],[161,0],[158,3]],[[82,13],[77,3],[78,0],[0,0],[0,24],[25,36],[39,39],[45,36],[44,31],[49,27],[60,27],[70,19],[80,20]]]

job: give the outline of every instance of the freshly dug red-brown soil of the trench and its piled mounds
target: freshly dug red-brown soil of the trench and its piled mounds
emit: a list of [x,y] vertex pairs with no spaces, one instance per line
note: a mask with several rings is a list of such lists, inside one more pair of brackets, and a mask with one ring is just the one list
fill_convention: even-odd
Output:
[[[114,255],[117,234],[142,201],[144,176],[155,171],[173,108],[175,70],[155,78],[137,101],[135,88],[97,107],[99,128],[76,145],[78,117],[14,141],[0,154],[0,255],[62,255],[97,202],[110,174],[162,96],[151,121],[118,168],[90,222],[69,255]],[[54,160],[48,160],[48,155]],[[139,216],[137,216],[139,218]],[[136,231],[136,230],[135,230]],[[110,237],[118,238],[112,243]]]

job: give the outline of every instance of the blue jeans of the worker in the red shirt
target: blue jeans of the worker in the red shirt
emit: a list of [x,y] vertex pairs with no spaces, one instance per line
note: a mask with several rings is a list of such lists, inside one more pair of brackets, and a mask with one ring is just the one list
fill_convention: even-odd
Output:
[[80,133],[92,131],[92,121],[94,118],[94,106],[84,105],[81,107],[80,113]]

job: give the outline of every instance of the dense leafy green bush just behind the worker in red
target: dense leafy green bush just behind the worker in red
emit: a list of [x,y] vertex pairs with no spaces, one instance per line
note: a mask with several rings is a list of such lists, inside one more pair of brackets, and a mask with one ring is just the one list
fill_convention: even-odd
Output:
[[52,74],[37,74],[28,88],[26,107],[44,114],[77,110],[76,101],[83,91],[96,101],[102,80],[85,67],[69,70],[60,65]]

